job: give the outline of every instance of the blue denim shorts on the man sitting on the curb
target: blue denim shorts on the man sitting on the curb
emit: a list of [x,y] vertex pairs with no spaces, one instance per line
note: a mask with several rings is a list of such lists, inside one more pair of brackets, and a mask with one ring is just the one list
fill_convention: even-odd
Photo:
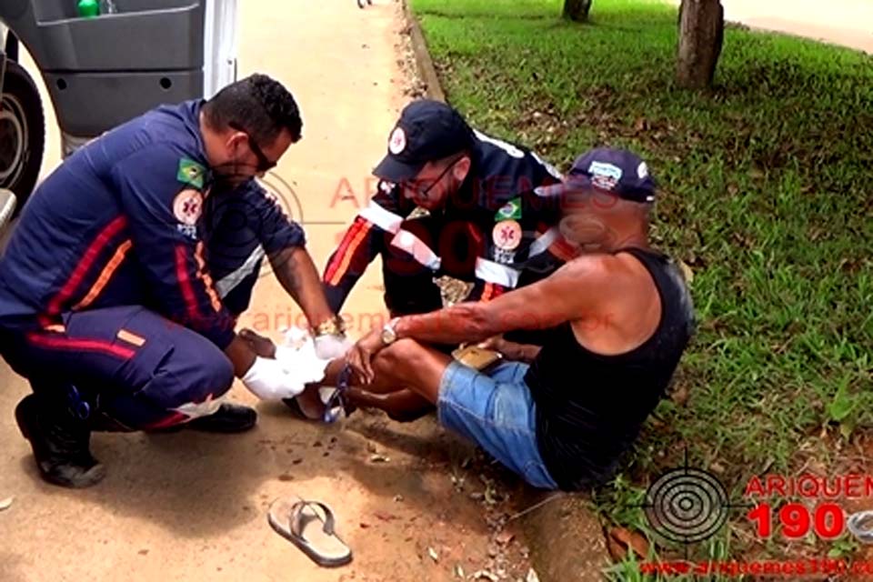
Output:
[[440,380],[437,415],[440,424],[476,442],[530,485],[557,489],[537,447],[527,367],[504,362],[482,373],[451,362]]

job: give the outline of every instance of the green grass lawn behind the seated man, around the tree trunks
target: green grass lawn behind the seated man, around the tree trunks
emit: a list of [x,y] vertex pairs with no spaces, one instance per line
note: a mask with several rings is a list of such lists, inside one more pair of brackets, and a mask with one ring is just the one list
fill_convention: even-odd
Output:
[[873,426],[873,58],[729,27],[715,86],[685,92],[675,7],[595,0],[577,25],[561,4],[412,2],[473,125],[562,169],[629,147],[662,187],[655,242],[694,272],[688,397],[664,402],[604,495],[638,497],[686,444],[740,489],[808,462],[837,472],[838,448]]

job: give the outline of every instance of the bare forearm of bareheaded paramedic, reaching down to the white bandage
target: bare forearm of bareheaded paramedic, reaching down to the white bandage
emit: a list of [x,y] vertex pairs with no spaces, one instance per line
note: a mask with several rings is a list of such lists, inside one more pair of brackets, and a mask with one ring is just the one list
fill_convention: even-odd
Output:
[[316,327],[334,316],[327,305],[321,276],[312,257],[302,246],[292,246],[270,256],[276,278],[303,310],[310,326]]

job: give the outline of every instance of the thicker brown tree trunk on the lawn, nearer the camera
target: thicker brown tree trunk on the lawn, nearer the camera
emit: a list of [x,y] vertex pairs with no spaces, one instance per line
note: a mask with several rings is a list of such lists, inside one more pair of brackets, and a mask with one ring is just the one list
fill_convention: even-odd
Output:
[[712,84],[724,32],[720,0],[682,0],[676,68],[679,86],[701,89]]

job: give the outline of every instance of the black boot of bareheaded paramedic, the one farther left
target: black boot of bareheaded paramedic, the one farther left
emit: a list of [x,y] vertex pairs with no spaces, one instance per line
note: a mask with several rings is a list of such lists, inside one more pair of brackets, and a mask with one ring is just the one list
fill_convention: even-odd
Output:
[[105,477],[105,467],[88,450],[90,429],[63,405],[49,409],[31,394],[15,407],[15,421],[21,434],[30,441],[36,467],[48,483],[83,488],[96,485]]

